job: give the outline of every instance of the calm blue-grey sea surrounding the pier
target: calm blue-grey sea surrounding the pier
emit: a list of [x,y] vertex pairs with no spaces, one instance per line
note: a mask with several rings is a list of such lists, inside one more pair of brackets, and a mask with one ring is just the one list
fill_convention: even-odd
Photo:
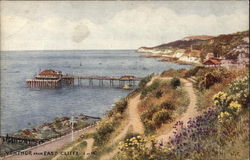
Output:
[[117,88],[91,88],[87,82],[82,87],[27,88],[25,80],[40,70],[54,69],[73,75],[144,77],[165,69],[187,67],[140,58],[133,50],[1,52],[1,134],[35,127],[57,116],[80,113],[102,116],[114,102],[129,93]]

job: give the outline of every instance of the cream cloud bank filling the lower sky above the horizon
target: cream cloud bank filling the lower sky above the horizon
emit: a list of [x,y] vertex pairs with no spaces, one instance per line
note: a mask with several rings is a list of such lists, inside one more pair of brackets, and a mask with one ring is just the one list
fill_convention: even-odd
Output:
[[142,45],[154,46],[188,35],[218,35],[248,29],[248,14],[239,9],[219,16],[213,13],[204,16],[184,12],[177,13],[161,6],[152,8],[140,5],[117,11],[112,17],[103,20],[103,23],[94,23],[96,14],[93,18],[86,18],[83,14],[82,18],[75,20],[53,14],[35,20],[5,12],[1,17],[2,48],[136,49]]

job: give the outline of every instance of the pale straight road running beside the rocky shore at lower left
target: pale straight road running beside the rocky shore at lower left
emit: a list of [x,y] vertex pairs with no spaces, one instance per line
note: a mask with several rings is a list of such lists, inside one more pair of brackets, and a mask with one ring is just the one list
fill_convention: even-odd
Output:
[[[95,126],[89,127],[84,130],[76,131],[74,132],[74,140],[80,137],[83,133],[90,132],[92,130],[95,130]],[[39,146],[35,146],[32,148],[28,148],[24,150],[26,153],[30,153],[28,155],[11,155],[6,156],[3,159],[4,160],[39,160],[43,159],[45,157],[48,157],[49,155],[44,154],[45,152],[56,152],[58,149],[62,148],[64,145],[72,142],[71,134],[65,135],[63,137],[60,137],[58,139],[54,139],[52,141],[43,143]]]

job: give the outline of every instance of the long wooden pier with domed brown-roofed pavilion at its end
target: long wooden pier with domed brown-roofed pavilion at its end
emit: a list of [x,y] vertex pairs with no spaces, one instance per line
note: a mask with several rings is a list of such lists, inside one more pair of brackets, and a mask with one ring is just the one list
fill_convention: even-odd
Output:
[[136,86],[136,82],[142,79],[143,78],[131,75],[120,77],[63,75],[61,71],[44,70],[34,79],[27,79],[26,84],[30,88],[58,88],[64,85],[82,85],[82,81],[87,80],[89,86],[94,86],[96,84],[98,86],[104,86],[107,85],[108,82],[108,85],[111,87],[123,87],[124,85]]

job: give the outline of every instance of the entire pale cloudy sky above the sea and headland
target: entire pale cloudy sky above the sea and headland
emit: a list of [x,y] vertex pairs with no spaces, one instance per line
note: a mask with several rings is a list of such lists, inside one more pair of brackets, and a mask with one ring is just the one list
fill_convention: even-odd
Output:
[[249,28],[248,1],[1,1],[1,50],[137,49]]

